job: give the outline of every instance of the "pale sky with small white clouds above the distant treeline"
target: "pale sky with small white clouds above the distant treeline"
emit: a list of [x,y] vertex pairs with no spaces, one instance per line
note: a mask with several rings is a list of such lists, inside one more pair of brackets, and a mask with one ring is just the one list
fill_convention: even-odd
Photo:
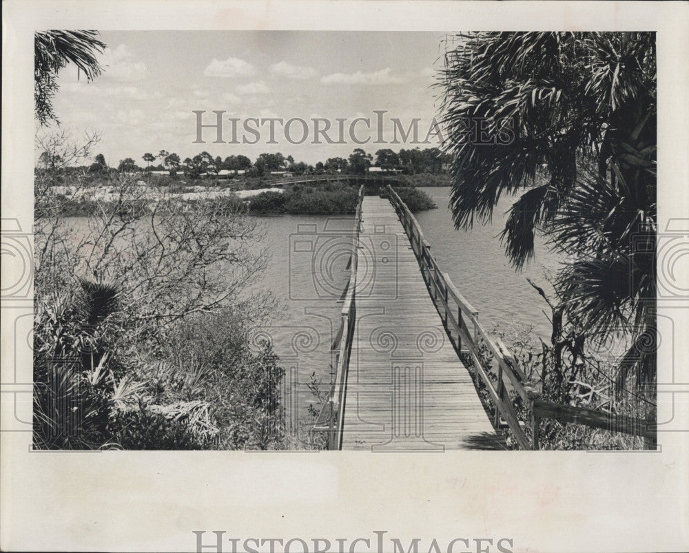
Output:
[[[127,31],[101,32],[108,46],[101,56],[103,74],[87,83],[76,68],[68,66],[59,76],[54,98],[62,127],[77,134],[96,130],[101,136],[97,150],[108,165],[133,158],[139,165],[145,152],[161,149],[181,159],[204,150],[223,158],[243,154],[255,160],[263,152],[282,152],[297,161],[316,163],[335,156],[348,156],[362,147],[377,149],[415,147],[407,144],[371,144],[378,137],[377,117],[382,115],[382,141],[394,138],[398,118],[404,130],[420,118],[420,140],[438,145],[429,135],[437,114],[438,89],[432,87],[442,66],[441,32],[307,32],[307,31]],[[214,110],[224,110],[223,140],[232,140],[232,123],[238,118],[239,144],[220,143],[215,129],[203,129],[205,144],[194,143],[197,115],[204,124],[216,123]],[[260,127],[256,144],[241,143],[256,136],[243,131],[247,118],[302,118],[307,121],[306,139],[289,143],[284,127],[276,124],[270,140],[269,124]],[[371,118],[371,131],[358,123],[354,136],[366,145],[353,143],[349,128],[357,117]],[[333,127],[329,136],[340,141],[336,118],[347,118],[345,143],[313,144],[311,118],[327,118]],[[325,123],[320,123],[325,125]],[[293,142],[304,129],[290,126]],[[398,136],[401,141],[401,136]]]

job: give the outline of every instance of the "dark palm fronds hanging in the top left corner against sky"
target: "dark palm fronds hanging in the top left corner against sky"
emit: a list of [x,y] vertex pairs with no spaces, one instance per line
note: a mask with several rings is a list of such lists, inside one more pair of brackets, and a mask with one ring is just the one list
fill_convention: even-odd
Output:
[[52,110],[52,96],[57,92],[57,74],[68,63],[92,81],[101,74],[96,57],[107,46],[99,41],[98,31],[49,30],[34,34],[34,112],[41,125],[56,121]]

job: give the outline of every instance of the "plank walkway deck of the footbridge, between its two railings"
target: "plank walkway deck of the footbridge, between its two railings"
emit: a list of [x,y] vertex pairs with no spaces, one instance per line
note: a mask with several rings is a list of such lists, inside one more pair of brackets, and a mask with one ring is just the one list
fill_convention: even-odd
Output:
[[367,196],[344,450],[504,449],[389,200]]

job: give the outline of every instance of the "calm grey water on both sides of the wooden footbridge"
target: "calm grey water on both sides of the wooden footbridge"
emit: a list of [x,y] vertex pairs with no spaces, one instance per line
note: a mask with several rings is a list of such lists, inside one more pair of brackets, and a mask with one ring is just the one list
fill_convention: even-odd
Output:
[[[542,312],[545,302],[528,285],[526,277],[543,283],[543,269],[556,269],[557,258],[537,242],[535,262],[522,273],[509,265],[496,236],[504,226],[508,198],[495,209],[493,223],[471,231],[455,231],[447,209],[448,187],[424,188],[439,209],[416,214],[431,243],[431,252],[462,295],[479,311],[484,327],[504,331],[533,326],[532,338],[550,335]],[[322,379],[327,393],[331,379],[330,347],[338,333],[342,304],[340,296],[349,279],[353,217],[273,216],[261,217],[266,236],[261,244],[269,264],[251,289],[271,291],[280,304],[269,328],[255,339],[268,339],[285,368],[287,419],[308,421],[309,390],[313,374]],[[70,218],[72,227],[85,227],[85,218]],[[79,234],[79,232],[76,232]]]

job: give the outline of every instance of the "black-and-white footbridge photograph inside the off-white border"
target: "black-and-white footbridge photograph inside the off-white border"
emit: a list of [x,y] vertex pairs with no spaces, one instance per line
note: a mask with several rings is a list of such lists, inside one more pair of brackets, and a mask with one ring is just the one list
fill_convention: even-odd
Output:
[[655,32],[37,30],[34,125],[35,450],[657,448]]

